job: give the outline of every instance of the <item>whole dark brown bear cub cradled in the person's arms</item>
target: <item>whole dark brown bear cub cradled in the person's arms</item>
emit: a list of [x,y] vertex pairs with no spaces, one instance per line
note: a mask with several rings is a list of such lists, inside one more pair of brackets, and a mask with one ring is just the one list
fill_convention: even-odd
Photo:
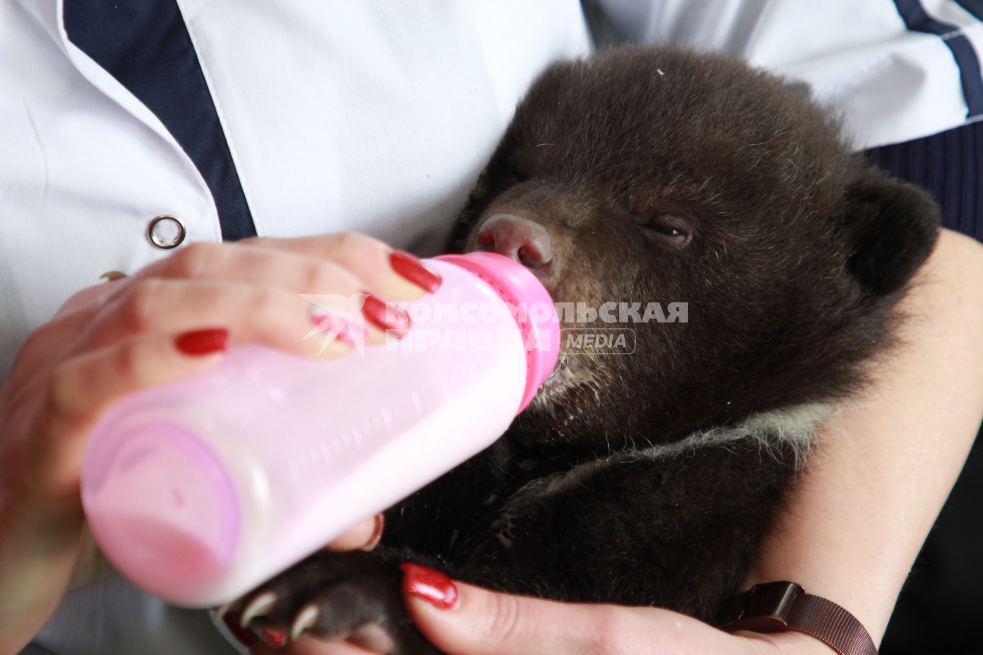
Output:
[[255,625],[289,632],[313,603],[317,634],[375,623],[396,653],[437,652],[403,609],[404,561],[711,620],[937,238],[932,200],[839,133],[800,84],[725,56],[550,67],[451,247],[501,249],[479,233],[506,215],[549,235],[547,256],[506,253],[535,260],[554,301],[684,302],[688,320],[621,325],[632,355],[562,355],[491,448],[386,513],[375,551],[319,553],[252,592],[276,593]]

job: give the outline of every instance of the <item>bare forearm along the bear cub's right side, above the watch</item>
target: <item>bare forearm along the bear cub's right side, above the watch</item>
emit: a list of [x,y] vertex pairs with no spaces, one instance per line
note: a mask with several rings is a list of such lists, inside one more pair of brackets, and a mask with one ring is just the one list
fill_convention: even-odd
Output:
[[983,417],[983,246],[943,230],[903,301],[905,342],[826,426],[748,575],[835,600],[880,642]]

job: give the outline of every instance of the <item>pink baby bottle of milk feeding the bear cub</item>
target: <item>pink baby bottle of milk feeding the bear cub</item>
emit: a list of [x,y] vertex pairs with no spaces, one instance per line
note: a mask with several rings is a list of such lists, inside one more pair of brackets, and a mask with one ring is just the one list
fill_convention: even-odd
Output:
[[549,294],[491,252],[443,282],[400,341],[330,361],[260,346],[137,392],[95,426],[88,524],[116,570],[177,605],[242,595],[484,450],[549,376]]

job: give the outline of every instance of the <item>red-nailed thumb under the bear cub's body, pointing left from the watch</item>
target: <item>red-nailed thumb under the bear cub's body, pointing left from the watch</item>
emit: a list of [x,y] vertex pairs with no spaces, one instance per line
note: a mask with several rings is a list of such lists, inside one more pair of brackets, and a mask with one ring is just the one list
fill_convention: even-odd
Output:
[[760,642],[667,610],[560,603],[488,591],[417,565],[403,571],[417,628],[448,655],[765,652]]

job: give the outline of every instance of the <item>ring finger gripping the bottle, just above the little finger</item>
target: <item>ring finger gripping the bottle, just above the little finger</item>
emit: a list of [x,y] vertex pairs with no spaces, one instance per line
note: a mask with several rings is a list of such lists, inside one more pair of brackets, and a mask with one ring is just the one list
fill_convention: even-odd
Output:
[[[342,293],[357,292],[351,288]],[[339,295],[340,298],[344,298]],[[316,305],[279,287],[244,282],[134,280],[87,325],[73,353],[106,346],[121,335],[177,333],[202,325],[224,325],[237,343],[260,343],[296,355],[329,358],[348,352],[341,340],[326,340],[312,314]],[[384,341],[375,325],[350,310],[370,344]],[[360,333],[360,335],[363,333]],[[331,336],[331,335],[328,335]]]

